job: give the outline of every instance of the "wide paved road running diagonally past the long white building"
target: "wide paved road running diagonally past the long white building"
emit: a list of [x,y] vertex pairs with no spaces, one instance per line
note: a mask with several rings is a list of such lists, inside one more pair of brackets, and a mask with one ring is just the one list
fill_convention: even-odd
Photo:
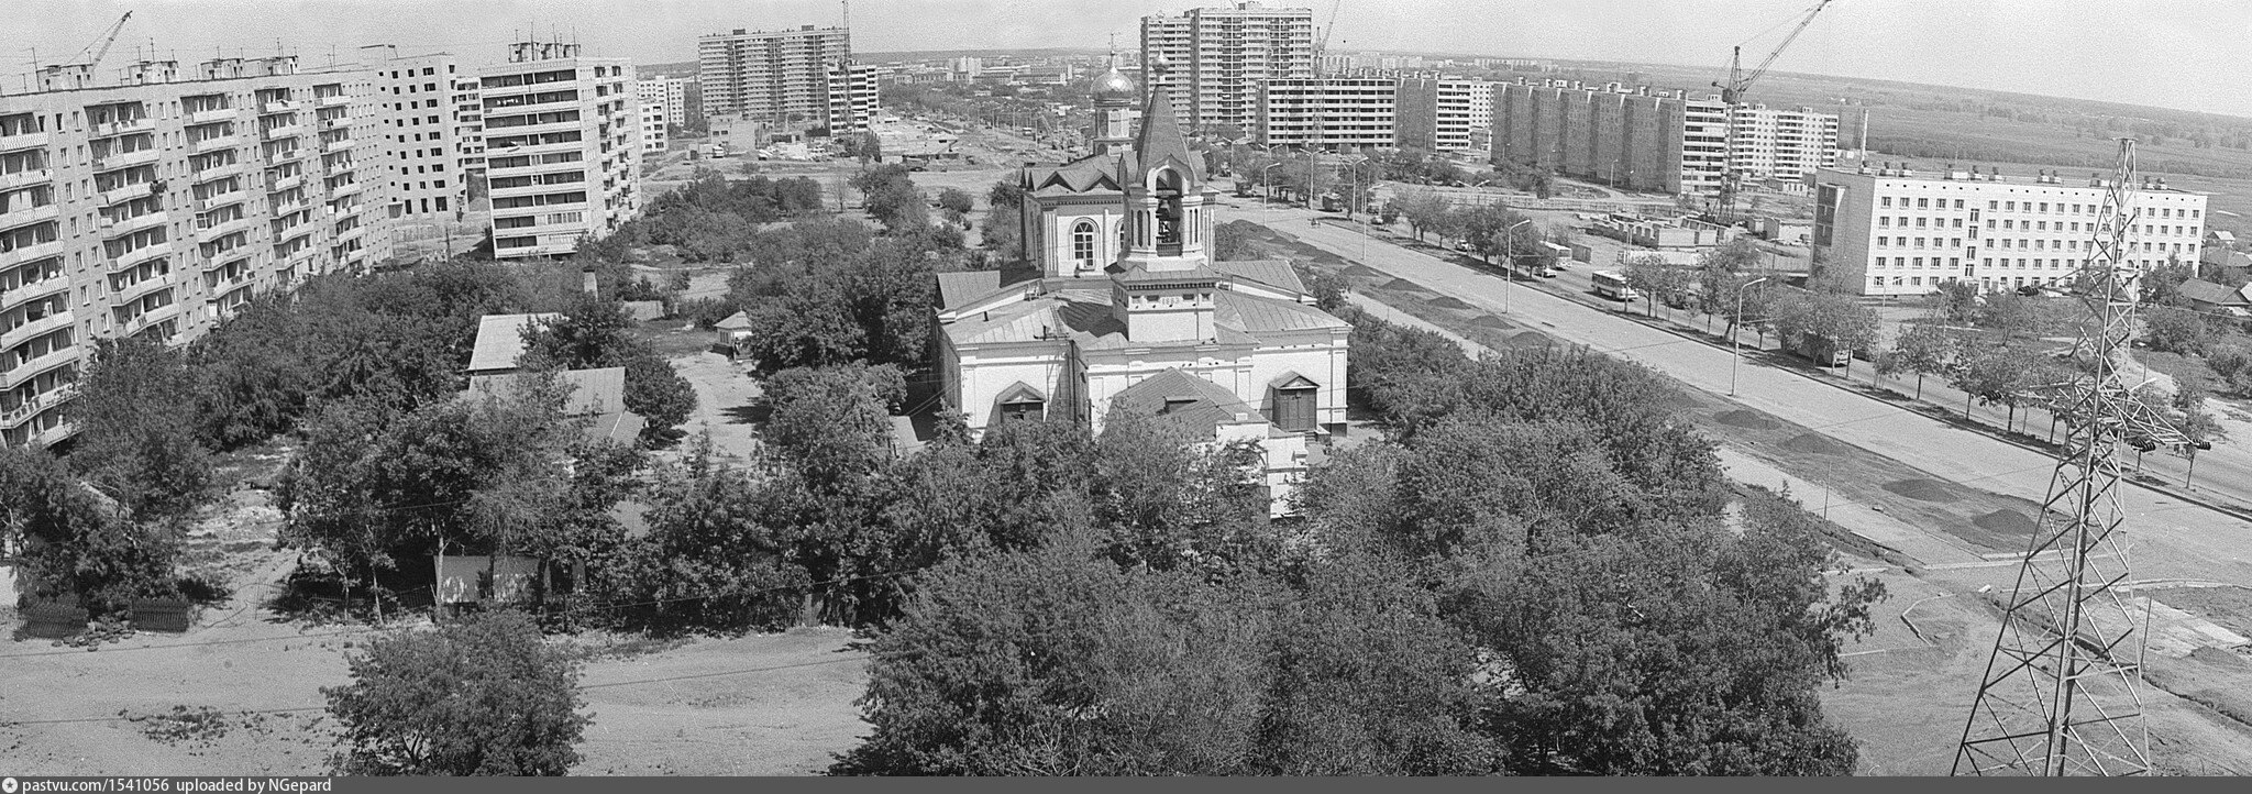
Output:
[[[1369,268],[1405,277],[1455,295],[1480,308],[1504,313],[1502,279],[1439,261],[1394,245],[1367,243],[1365,236],[1338,227],[1311,227],[1306,211],[1250,214],[1254,220],[1277,220],[1277,229],[1335,254],[1358,259]],[[1522,283],[1520,283],[1522,286]],[[1687,387],[1712,394],[1730,389],[1730,353],[1700,342],[1615,317],[1606,310],[1567,301],[1540,290],[1516,288],[1507,315],[1538,324],[1567,342],[1648,364]],[[1950,427],[1901,407],[1840,391],[1802,373],[1743,367],[1736,400],[1761,412],[1799,423],[1939,479],[2038,499],[2049,488],[2054,461],[2045,454]],[[2126,486],[2121,504],[2135,538],[2137,578],[2207,578],[2252,583],[2252,524],[2169,495]]]

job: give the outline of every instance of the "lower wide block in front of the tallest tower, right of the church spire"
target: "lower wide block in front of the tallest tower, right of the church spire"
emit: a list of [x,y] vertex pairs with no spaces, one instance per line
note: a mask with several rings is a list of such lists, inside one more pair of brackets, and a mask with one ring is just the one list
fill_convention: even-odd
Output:
[[1250,128],[1263,146],[1396,146],[1398,81],[1313,76],[1268,81]]

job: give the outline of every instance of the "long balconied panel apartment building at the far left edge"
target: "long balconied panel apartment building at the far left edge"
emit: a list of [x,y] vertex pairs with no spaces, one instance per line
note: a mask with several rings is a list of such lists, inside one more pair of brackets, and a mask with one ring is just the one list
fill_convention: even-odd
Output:
[[185,344],[257,292],[390,259],[372,76],[140,61],[0,97],[0,441],[74,434],[92,340]]

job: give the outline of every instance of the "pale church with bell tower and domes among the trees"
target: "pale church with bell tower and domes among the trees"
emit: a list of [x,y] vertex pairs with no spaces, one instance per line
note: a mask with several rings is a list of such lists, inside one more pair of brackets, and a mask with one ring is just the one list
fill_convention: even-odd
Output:
[[1218,191],[1173,103],[1112,65],[1097,79],[1094,153],[1025,166],[1025,261],[939,274],[941,391],[973,432],[1009,418],[1083,421],[1112,405],[1266,450],[1284,495],[1344,432],[1351,326],[1288,261],[1212,261]]

